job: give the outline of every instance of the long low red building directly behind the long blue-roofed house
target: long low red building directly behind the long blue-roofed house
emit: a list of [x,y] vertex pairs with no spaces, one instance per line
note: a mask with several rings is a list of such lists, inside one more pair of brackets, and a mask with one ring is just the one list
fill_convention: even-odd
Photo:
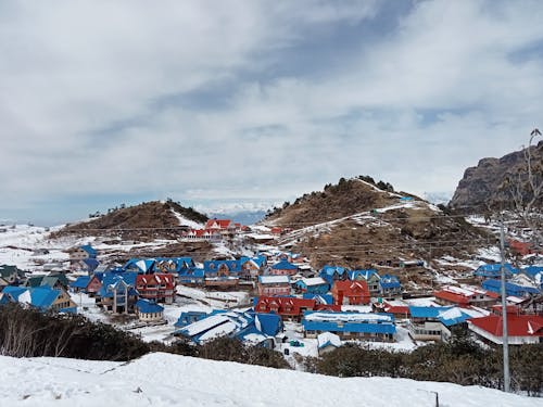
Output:
[[254,310],[263,314],[277,314],[282,320],[300,321],[306,310],[341,310],[338,305],[317,302],[316,298],[298,298],[293,296],[260,296]]

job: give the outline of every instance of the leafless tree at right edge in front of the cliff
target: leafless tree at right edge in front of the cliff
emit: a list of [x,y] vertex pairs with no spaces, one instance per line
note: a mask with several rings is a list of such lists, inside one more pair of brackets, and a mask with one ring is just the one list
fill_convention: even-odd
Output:
[[506,177],[504,187],[510,192],[515,214],[531,230],[534,242],[543,244],[543,144],[534,144],[536,137],[541,131],[535,128],[523,147],[522,166]]

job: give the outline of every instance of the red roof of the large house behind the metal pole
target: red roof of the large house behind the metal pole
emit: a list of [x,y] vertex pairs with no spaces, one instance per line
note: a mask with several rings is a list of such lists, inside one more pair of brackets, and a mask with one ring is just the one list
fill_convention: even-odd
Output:
[[[470,322],[494,336],[503,334],[502,316],[489,315],[470,319]],[[539,315],[508,315],[507,331],[509,336],[543,336],[543,317]]]

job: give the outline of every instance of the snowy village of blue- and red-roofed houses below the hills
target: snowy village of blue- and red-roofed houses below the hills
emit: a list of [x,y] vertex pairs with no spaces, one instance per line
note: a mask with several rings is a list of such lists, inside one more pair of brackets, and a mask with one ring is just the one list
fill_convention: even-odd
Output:
[[[463,331],[487,345],[502,343],[498,262],[476,262],[456,280],[441,276],[433,290],[421,293],[407,290],[401,278],[406,268],[424,267],[418,262],[399,262],[390,271],[332,263],[314,269],[303,255],[275,244],[288,232],[210,219],[179,239],[211,241],[219,252],[250,239],[256,250],[201,263],[180,253],[118,264],[80,244],[65,251],[65,262],[40,270],[0,266],[0,304],[79,313],[144,341],[236,338],[281,352],[293,366],[295,354],[317,357],[348,342],[409,352]],[[515,240],[509,244],[527,265],[505,265],[508,342],[541,343],[543,256]],[[47,258],[46,252],[37,255]]]

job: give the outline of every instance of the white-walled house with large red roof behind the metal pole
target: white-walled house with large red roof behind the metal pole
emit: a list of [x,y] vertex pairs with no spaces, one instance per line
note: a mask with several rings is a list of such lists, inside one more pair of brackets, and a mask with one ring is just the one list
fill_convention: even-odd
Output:
[[[517,314],[507,309],[507,341],[509,345],[543,343],[543,317]],[[468,320],[469,330],[487,343],[503,344],[503,314],[501,310],[487,317]]]

